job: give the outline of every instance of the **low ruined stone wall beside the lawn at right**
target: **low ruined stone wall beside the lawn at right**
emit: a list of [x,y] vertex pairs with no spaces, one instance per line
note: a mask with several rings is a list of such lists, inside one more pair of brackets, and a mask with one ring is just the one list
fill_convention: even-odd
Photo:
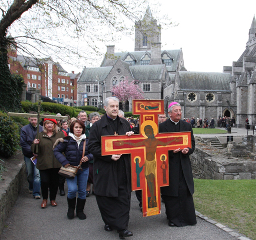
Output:
[[203,179],[256,179],[254,157],[234,157],[226,149],[197,142],[190,159],[192,168]]

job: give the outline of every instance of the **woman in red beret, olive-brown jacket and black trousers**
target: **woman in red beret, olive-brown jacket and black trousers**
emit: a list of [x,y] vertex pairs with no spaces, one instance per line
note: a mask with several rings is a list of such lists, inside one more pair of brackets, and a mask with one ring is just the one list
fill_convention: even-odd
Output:
[[52,206],[57,206],[55,201],[58,191],[58,172],[61,163],[53,154],[53,145],[55,141],[64,137],[63,131],[58,131],[56,119],[45,118],[44,130],[39,133],[38,139],[35,139],[31,145],[31,150],[36,152],[36,144],[38,144],[37,168],[41,177],[41,191],[43,201],[42,208],[46,208],[48,199],[48,189],[50,189],[50,201]]

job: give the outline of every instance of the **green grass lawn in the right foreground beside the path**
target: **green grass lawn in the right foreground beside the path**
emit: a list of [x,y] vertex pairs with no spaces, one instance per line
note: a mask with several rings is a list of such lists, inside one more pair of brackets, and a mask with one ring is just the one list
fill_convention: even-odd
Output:
[[256,180],[194,182],[197,211],[256,240]]

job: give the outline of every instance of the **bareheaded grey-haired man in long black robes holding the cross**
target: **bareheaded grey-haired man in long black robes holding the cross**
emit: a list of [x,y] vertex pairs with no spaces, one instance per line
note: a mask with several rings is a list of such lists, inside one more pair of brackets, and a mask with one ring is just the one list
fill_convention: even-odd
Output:
[[118,116],[119,100],[107,97],[104,114],[90,129],[88,147],[94,156],[94,193],[99,206],[104,229],[117,229],[119,237],[132,236],[127,229],[131,206],[131,159],[130,154],[101,155],[102,135],[133,135],[131,126]]

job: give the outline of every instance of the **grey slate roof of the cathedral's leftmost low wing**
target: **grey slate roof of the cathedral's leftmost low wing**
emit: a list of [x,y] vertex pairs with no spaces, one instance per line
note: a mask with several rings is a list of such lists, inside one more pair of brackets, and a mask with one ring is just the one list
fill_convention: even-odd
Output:
[[85,67],[82,70],[78,82],[95,81],[95,79],[104,81],[111,69],[112,66]]

